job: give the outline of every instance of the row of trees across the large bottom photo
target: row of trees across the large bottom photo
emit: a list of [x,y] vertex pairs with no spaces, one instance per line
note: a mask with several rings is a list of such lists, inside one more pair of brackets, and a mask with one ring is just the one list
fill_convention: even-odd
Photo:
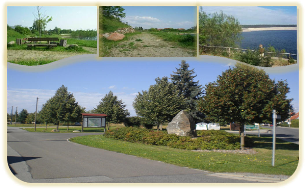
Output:
[[[106,114],[108,124],[156,125],[159,130],[159,125],[170,122],[178,112],[185,110],[195,122],[218,122],[222,125],[239,123],[243,138],[241,141],[244,141],[244,125],[271,123],[273,109],[281,115],[280,121],[289,117],[293,99],[287,99],[289,87],[286,80],[275,82],[263,70],[236,64],[223,71],[216,81],[202,86],[199,81],[194,81],[195,71],[189,69],[185,60],[179,66],[170,78],[158,77],[155,79],[156,84],[138,92],[132,103],[136,117],[129,117],[126,105],[112,91],[88,113]],[[43,104],[39,120],[57,125],[60,122],[80,122],[82,112],[85,112],[85,108],[80,107],[73,94],[62,85]],[[21,118],[30,118],[30,114],[26,116],[22,110],[18,120]]]

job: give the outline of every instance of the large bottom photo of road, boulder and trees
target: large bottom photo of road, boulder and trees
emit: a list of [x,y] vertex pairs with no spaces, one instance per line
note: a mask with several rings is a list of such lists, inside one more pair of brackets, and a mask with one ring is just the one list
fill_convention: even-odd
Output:
[[7,112],[7,174],[27,184],[256,186],[287,180],[299,163],[298,65],[200,56],[8,66]]

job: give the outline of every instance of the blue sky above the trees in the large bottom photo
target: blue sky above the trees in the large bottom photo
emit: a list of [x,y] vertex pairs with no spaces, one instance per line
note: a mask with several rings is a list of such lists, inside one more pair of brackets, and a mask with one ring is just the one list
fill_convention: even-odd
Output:
[[[220,61],[207,61],[205,59],[187,59],[190,69],[194,68],[201,85],[215,81],[217,76],[233,64],[219,63]],[[181,63],[179,59],[133,59],[133,60],[103,60],[86,61],[69,64],[50,71],[24,72],[8,69],[7,76],[7,111],[18,107],[34,112],[36,97],[38,110],[41,109],[56,90],[65,85],[73,93],[76,101],[86,111],[93,109],[99,101],[111,90],[119,100],[127,105],[131,116],[135,116],[132,102],[138,92],[148,90],[155,84],[155,78],[170,77]],[[268,73],[268,72],[267,72]],[[298,111],[299,87],[298,71],[285,73],[268,73],[271,79],[288,80],[290,93],[288,98],[294,98],[293,107]]]

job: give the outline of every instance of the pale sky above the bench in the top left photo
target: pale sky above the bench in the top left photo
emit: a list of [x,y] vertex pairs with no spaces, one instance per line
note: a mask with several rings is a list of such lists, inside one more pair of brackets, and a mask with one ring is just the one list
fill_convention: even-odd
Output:
[[[37,13],[35,6],[8,6],[7,24],[31,27],[35,19],[33,13]],[[55,27],[71,30],[97,29],[96,6],[43,6],[40,13],[52,16],[52,21],[48,22],[46,30]]]

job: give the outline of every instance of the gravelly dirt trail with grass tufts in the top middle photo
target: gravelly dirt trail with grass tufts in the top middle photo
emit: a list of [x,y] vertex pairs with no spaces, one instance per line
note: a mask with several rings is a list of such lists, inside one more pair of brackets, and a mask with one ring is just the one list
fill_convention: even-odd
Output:
[[[141,41],[136,41],[141,39]],[[192,50],[163,41],[155,35],[142,32],[122,41],[110,50],[110,57],[192,57]]]

